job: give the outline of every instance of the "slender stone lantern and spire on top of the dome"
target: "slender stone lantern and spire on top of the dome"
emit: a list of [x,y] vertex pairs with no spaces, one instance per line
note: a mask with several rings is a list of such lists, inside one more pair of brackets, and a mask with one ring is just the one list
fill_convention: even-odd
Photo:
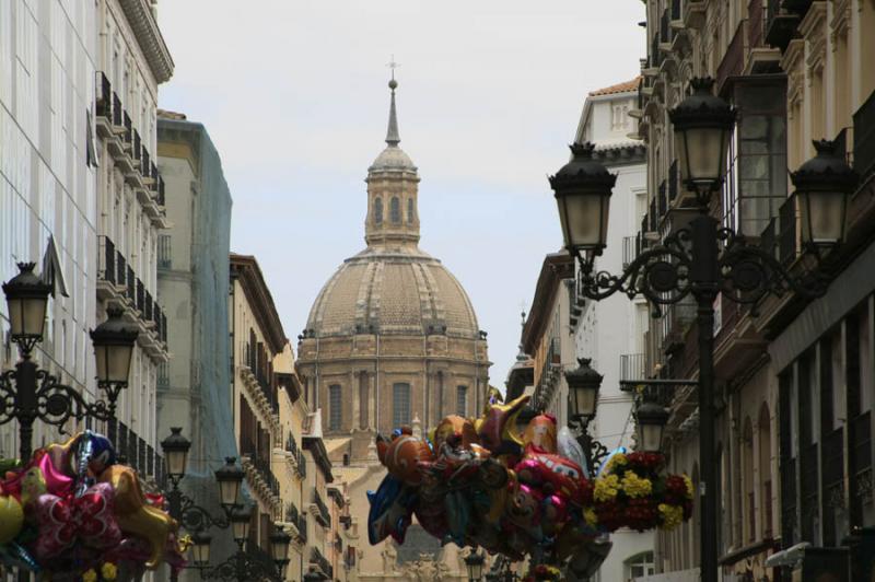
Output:
[[419,174],[417,166],[398,147],[398,116],[395,110],[395,90],[398,82],[389,81],[392,103],[386,149],[368,168],[368,218],[364,240],[369,246],[413,245],[419,242],[419,212],[417,196]]

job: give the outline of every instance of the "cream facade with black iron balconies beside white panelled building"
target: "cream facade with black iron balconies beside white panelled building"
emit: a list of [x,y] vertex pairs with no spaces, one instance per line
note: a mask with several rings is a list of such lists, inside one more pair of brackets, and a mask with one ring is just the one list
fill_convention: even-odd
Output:
[[158,373],[170,358],[167,313],[158,298],[158,240],[170,223],[158,172],[156,103],[174,65],[154,2],[102,0],[95,7],[95,309],[97,321],[119,309],[140,328],[129,386],[118,401],[116,447],[152,475],[162,465],[155,451]]

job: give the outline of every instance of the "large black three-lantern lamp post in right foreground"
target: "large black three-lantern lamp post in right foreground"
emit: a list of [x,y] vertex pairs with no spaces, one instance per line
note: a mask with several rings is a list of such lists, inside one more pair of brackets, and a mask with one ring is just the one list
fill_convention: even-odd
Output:
[[[688,229],[667,236],[663,244],[642,252],[620,275],[595,271],[595,256],[607,240],[606,200],[614,183],[607,170],[592,158],[592,146],[574,146],[574,159],[550,178],[556,193],[565,247],[581,263],[580,289],[584,296],[602,300],[617,291],[630,298],[642,294],[660,315],[660,306],[691,295],[698,305],[699,414],[701,470],[701,566],[703,582],[718,580],[716,465],[714,462],[714,301],[722,294],[751,306],[767,294],[789,290],[817,298],[826,292],[819,272],[801,276],[785,270],[767,251],[749,246],[744,236],[720,228],[708,213],[714,191],[726,168],[726,151],[735,123],[735,110],[711,94],[713,81],[691,82],[693,93],[669,117],[685,185],[696,193],[699,216]],[[832,143],[815,143],[817,156],[791,175],[803,217],[802,238],[806,252],[816,256],[842,242],[847,200],[858,176],[838,155]],[[655,446],[662,414],[642,406],[639,410],[640,444]],[[643,416],[642,416],[643,415]]]

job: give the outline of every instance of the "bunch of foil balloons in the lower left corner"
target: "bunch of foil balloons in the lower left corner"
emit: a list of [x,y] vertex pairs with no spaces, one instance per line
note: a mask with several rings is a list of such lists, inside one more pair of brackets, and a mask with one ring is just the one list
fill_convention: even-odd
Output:
[[163,496],[143,492],[106,436],[84,431],[0,468],[0,563],[83,582],[185,566]]

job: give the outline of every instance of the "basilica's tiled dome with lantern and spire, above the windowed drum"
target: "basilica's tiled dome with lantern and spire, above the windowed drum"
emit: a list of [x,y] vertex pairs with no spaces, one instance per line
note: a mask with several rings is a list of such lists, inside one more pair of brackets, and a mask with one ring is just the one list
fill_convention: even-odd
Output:
[[368,168],[368,247],[343,261],[323,287],[307,319],[310,337],[478,335],[477,316],[462,284],[418,246],[419,175],[398,146],[397,86],[389,83],[386,148]]

